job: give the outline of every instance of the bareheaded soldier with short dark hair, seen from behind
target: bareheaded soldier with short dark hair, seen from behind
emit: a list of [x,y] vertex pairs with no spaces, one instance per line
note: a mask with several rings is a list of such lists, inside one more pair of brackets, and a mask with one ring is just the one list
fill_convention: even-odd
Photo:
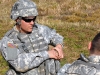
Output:
[[83,54],[72,64],[65,64],[57,75],[100,75],[100,33],[88,45],[89,57]]

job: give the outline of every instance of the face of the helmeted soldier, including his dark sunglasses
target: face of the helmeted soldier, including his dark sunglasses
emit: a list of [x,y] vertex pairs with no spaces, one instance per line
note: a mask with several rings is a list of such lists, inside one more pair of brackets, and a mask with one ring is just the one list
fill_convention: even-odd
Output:
[[22,17],[21,20],[21,32],[30,33],[33,30],[33,25],[35,23],[36,17]]

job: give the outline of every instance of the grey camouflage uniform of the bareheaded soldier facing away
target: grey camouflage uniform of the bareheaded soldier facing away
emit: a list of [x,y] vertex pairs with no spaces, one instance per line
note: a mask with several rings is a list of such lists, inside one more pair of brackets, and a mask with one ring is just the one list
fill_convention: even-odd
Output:
[[57,75],[100,75],[100,56],[82,56],[72,64],[65,64]]

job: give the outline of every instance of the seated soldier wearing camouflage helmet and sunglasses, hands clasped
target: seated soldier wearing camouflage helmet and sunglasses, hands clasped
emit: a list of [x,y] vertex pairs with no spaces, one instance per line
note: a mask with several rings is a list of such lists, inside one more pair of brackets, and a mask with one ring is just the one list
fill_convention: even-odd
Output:
[[[1,52],[9,63],[6,75],[56,75],[63,58],[63,37],[54,29],[36,23],[36,4],[18,0],[11,19],[16,24],[1,40]],[[49,45],[53,48],[49,50]]]

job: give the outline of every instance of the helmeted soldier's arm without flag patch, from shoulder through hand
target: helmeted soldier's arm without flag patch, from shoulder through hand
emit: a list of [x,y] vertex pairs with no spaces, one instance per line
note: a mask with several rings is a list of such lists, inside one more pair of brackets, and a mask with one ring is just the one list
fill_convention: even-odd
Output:
[[[63,58],[63,37],[59,35],[56,30],[51,29],[47,26],[39,26],[40,33],[43,35],[44,39],[50,45],[54,46],[54,50],[59,53],[59,59]],[[43,33],[42,33],[43,32]]]

